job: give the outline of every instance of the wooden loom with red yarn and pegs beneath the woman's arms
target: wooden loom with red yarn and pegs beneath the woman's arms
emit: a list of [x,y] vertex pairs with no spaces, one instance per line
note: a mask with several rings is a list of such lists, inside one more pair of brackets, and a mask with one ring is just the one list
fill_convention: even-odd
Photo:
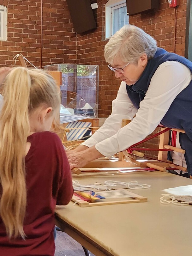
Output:
[[[130,122],[130,120],[123,119],[122,121],[122,127],[127,125]],[[152,137],[156,137],[160,135],[160,141],[159,141],[159,149],[156,149],[159,151],[158,159],[152,159],[152,160],[139,160],[135,159],[133,155],[137,157],[143,158],[144,154],[138,150],[155,150],[155,149],[137,149],[134,148],[135,146],[139,145],[142,142],[136,143],[135,145],[131,146],[129,149],[120,152],[118,154],[118,159],[116,158],[100,158],[98,160],[94,160],[92,162],[89,162],[84,168],[80,168],[78,176],[93,176],[93,175],[106,175],[106,174],[123,174],[120,171],[117,170],[106,170],[103,171],[100,169],[100,171],[97,172],[97,168],[127,168],[127,170],[135,170],[135,171],[145,171],[145,170],[159,170],[162,172],[166,172],[167,169],[179,169],[182,171],[187,171],[186,168],[182,166],[178,166],[176,164],[173,164],[171,161],[167,160],[167,153],[168,151],[174,150],[176,152],[185,153],[185,150],[179,149],[173,146],[168,145],[169,143],[169,133],[170,130],[178,131],[178,132],[184,132],[183,130],[179,129],[169,129],[166,127],[161,128],[161,131],[157,133],[156,135],[153,135],[143,141],[147,141]],[[134,168],[134,169],[133,169]]]

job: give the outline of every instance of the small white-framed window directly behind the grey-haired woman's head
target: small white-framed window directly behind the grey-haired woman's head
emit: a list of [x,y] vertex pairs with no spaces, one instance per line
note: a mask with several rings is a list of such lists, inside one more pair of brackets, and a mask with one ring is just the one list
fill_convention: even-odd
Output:
[[105,39],[129,24],[126,1],[109,0],[105,5]]

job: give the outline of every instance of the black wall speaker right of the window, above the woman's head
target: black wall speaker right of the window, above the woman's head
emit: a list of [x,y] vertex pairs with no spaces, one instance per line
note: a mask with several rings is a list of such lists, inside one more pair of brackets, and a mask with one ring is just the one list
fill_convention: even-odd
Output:
[[127,15],[159,8],[159,0],[127,0]]

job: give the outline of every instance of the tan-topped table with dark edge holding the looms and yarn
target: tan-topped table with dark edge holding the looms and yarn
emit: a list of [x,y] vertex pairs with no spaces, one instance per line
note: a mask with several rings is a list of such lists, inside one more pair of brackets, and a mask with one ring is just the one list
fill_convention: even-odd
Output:
[[96,256],[187,256],[191,254],[192,205],[160,204],[162,189],[191,185],[192,180],[162,172],[79,178],[81,184],[106,180],[150,184],[131,190],[146,203],[81,208],[69,203],[56,210],[57,225]]

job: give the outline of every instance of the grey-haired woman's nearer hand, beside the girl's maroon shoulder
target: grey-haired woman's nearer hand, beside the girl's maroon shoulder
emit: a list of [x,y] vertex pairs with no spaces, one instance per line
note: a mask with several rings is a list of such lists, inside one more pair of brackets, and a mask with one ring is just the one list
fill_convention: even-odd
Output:
[[[74,151],[74,150],[70,150]],[[88,162],[97,159],[99,157],[102,157],[103,155],[95,149],[95,146],[88,148],[86,150],[80,151],[80,152],[72,152],[68,155],[68,160],[70,164],[70,168],[82,168],[85,166]]]

